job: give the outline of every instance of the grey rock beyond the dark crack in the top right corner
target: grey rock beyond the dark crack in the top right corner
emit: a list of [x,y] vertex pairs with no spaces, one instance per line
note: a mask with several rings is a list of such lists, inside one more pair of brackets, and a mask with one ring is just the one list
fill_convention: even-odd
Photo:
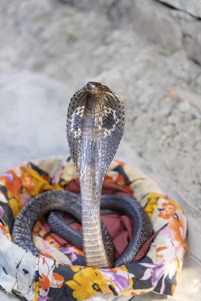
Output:
[[173,8],[187,12],[192,16],[201,18],[201,2],[200,0],[159,0]]

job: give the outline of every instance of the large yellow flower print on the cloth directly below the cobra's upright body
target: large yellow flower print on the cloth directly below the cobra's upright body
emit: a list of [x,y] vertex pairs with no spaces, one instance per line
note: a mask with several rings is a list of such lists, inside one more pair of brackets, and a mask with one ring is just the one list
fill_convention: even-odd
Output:
[[[100,293],[111,293],[107,280],[96,268],[92,267],[71,267],[77,271],[73,280],[65,283],[73,289],[73,297],[77,300],[88,299]],[[99,288],[101,286],[101,289]]]

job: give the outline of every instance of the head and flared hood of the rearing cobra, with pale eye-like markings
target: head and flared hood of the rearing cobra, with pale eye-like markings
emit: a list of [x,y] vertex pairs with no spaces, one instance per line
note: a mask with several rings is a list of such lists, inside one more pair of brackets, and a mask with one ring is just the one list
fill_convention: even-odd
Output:
[[67,139],[78,177],[83,172],[82,162],[93,166],[96,160],[104,177],[122,138],[124,123],[122,99],[102,83],[88,82],[73,95],[67,113]]

